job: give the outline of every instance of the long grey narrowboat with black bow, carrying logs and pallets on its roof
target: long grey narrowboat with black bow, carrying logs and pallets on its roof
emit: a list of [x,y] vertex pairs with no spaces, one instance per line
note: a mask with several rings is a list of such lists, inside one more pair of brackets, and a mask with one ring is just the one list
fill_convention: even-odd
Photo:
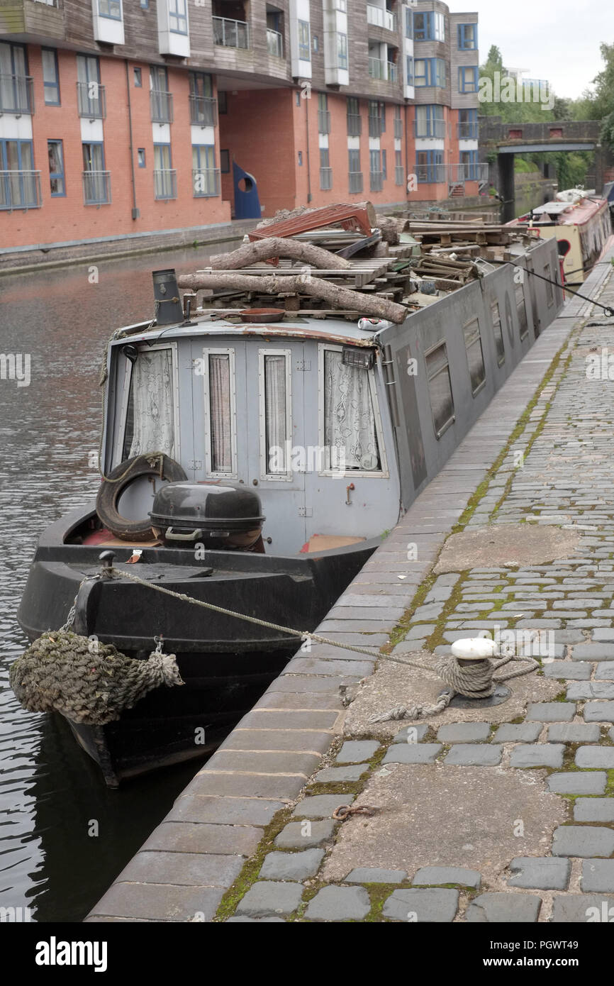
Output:
[[300,644],[265,624],[316,627],[557,316],[556,244],[509,249],[400,323],[181,312],[169,272],[171,306],[113,333],[101,492],[42,533],[18,614],[30,641],[74,617],[127,658],[175,655],[180,686],[65,716],[109,786],[224,739]]

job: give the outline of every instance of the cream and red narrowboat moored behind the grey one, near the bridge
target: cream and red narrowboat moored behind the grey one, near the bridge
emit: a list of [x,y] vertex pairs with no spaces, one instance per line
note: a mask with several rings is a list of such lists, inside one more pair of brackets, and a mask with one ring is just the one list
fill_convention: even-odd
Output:
[[556,240],[566,284],[581,284],[612,235],[610,206],[594,191],[570,188],[553,202],[537,206],[508,226],[528,223],[542,240]]

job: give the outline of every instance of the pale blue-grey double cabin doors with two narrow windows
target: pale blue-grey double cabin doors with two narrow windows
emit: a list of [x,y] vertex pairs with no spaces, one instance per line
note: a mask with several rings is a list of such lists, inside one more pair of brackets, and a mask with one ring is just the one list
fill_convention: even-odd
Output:
[[267,553],[297,554],[307,540],[303,343],[204,338],[192,363],[195,478],[257,492]]

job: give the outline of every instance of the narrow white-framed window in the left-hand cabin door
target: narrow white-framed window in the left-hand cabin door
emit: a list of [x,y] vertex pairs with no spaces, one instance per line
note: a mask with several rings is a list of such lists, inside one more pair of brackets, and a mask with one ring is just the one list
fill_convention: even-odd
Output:
[[205,459],[212,476],[237,477],[235,351],[205,349]]

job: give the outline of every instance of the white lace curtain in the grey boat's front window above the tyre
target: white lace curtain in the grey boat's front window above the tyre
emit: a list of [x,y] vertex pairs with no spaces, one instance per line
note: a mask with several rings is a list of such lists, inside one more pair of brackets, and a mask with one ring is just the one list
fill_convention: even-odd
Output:
[[174,453],[172,354],[170,349],[139,353],[132,371],[134,435],[128,458],[144,452]]

